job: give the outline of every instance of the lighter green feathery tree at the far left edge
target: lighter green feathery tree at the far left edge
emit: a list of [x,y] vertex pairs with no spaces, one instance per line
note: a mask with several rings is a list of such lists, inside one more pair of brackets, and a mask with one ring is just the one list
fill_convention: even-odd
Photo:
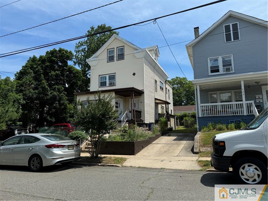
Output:
[[22,95],[16,92],[16,81],[0,76],[0,131],[7,125],[18,125],[23,103]]

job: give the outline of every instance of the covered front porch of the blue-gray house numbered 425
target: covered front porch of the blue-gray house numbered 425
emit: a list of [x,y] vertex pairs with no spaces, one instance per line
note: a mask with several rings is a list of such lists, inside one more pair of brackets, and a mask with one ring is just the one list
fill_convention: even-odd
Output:
[[267,72],[193,80],[199,130],[208,122],[249,123],[267,107]]

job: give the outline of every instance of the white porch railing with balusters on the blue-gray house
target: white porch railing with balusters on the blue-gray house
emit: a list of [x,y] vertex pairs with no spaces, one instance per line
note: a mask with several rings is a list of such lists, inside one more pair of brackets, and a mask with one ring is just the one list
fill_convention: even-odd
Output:
[[[246,101],[246,114],[258,115],[254,101]],[[229,103],[206,103],[200,104],[201,116],[231,116],[244,115],[243,102],[229,102]]]

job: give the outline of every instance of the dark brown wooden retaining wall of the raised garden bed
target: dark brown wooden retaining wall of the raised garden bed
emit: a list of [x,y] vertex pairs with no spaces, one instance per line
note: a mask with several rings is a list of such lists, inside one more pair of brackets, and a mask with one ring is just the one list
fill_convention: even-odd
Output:
[[161,137],[157,134],[147,140],[138,141],[103,141],[101,142],[100,154],[114,154],[114,155],[136,155],[143,148]]

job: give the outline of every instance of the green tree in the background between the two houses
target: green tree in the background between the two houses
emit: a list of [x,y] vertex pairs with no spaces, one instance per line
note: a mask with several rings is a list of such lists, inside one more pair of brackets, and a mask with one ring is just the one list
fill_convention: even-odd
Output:
[[168,80],[173,87],[173,105],[195,105],[195,87],[186,77],[175,77]]

